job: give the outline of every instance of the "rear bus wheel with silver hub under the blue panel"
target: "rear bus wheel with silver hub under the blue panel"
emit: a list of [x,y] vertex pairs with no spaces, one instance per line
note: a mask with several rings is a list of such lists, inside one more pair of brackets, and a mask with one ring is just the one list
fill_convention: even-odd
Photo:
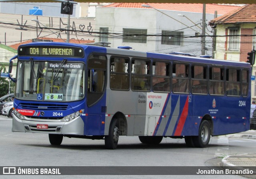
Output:
[[208,145],[211,137],[210,123],[206,120],[202,121],[199,127],[198,136],[193,136],[195,147],[204,148]]

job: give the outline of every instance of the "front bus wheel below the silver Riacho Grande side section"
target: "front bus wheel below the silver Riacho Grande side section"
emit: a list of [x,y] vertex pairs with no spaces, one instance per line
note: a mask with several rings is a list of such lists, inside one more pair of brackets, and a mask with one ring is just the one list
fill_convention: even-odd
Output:
[[114,119],[110,124],[108,135],[105,136],[106,149],[116,149],[119,139],[118,120]]

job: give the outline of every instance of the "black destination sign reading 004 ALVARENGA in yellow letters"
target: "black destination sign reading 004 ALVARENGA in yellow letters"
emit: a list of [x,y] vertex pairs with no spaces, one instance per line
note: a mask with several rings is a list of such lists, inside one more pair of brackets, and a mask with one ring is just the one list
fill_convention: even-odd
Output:
[[83,49],[78,47],[63,46],[25,46],[18,49],[19,56],[60,56],[80,57],[84,56]]

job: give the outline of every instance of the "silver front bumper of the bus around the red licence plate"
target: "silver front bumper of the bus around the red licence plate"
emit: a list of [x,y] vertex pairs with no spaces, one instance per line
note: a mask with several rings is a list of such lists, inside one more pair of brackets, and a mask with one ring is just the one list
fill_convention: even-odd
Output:
[[[22,120],[13,115],[12,132],[84,135],[84,121],[81,117],[76,117],[68,122],[36,121],[37,119],[34,119],[34,121],[32,120]],[[47,126],[47,129],[37,128],[37,125]]]

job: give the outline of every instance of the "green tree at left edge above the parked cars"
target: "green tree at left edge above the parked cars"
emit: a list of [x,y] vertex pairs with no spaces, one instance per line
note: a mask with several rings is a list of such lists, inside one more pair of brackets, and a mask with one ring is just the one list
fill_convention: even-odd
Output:
[[[4,65],[0,68],[1,73],[7,73]],[[10,93],[14,91],[14,83],[10,80]],[[9,92],[9,78],[0,78],[0,97],[8,94]]]

